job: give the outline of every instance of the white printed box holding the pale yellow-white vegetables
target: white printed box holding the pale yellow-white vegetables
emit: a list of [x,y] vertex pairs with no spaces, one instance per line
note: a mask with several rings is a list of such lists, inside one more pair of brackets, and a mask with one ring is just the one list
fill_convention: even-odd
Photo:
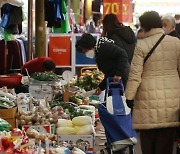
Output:
[[61,142],[76,144],[86,154],[93,154],[94,135],[59,135],[58,144]]

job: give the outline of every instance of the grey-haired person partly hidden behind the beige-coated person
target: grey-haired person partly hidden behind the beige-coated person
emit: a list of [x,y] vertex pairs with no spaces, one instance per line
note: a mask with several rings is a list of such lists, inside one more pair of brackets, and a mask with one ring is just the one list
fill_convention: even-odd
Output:
[[175,18],[172,16],[162,17],[162,24],[165,34],[180,38],[179,33],[176,31]]

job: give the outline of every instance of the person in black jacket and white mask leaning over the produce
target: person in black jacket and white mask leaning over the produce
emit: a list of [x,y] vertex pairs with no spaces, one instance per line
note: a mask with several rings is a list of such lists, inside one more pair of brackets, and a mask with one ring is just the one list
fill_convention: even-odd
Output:
[[91,34],[85,33],[76,42],[76,49],[89,58],[95,57],[99,70],[105,74],[104,80],[96,90],[97,95],[106,89],[107,77],[114,77],[116,82],[122,79],[126,86],[130,67],[128,55],[124,49],[114,44],[113,40],[101,37],[96,45],[96,39]]

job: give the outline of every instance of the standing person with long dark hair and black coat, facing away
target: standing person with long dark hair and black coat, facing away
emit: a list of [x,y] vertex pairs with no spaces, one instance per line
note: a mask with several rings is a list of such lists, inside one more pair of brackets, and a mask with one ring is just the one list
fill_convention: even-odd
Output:
[[124,26],[119,22],[115,14],[107,14],[102,20],[103,33],[102,36],[106,36],[109,39],[115,41],[115,44],[126,50],[128,55],[128,61],[131,63],[136,37],[133,30],[129,26]]

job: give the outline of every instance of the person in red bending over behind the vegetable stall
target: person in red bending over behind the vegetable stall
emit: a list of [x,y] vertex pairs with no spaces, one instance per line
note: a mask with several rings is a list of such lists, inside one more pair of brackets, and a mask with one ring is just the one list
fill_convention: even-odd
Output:
[[22,73],[26,74],[26,70],[29,74],[35,73],[35,72],[44,72],[44,71],[53,71],[55,69],[55,62],[50,57],[37,57],[35,59],[32,59],[28,62],[26,62],[22,66]]

